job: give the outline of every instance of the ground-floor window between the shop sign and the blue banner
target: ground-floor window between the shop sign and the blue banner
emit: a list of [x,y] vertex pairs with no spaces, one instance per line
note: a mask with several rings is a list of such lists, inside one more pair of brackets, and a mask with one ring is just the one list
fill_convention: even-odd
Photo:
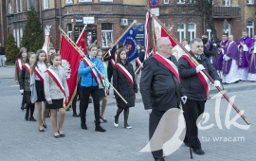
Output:
[[101,24],[101,46],[107,47],[107,44],[113,43],[113,25],[110,23]]

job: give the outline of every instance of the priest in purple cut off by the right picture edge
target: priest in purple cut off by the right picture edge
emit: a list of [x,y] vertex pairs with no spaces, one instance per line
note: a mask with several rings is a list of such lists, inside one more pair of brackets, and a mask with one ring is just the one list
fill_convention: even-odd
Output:
[[250,51],[247,80],[256,81],[256,35],[254,36],[254,46]]

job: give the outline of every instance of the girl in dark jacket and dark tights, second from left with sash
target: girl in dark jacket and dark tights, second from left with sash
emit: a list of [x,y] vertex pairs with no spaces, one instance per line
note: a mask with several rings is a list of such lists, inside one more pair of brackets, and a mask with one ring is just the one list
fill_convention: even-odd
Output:
[[28,52],[28,54],[27,54],[27,62],[28,63],[24,63],[22,65],[21,75],[20,75],[20,79],[19,79],[20,80],[20,92],[26,98],[27,112],[25,115],[25,119],[28,120],[28,116],[29,116],[29,112],[30,112],[29,121],[36,121],[36,119],[33,117],[34,110],[35,110],[35,104],[30,101],[31,91],[29,88],[29,86],[30,86],[29,79],[30,79],[30,70],[31,70],[30,64],[34,63],[34,59],[35,59],[35,53]]

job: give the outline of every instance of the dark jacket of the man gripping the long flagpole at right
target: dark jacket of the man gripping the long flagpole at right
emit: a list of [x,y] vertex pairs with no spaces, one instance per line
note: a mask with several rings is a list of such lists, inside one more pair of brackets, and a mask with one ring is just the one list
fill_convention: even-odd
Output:
[[[204,54],[200,56],[201,60],[198,60],[195,58],[192,51],[190,51],[190,53],[198,63],[204,65],[207,73],[210,74],[210,77],[213,80],[220,80],[216,69]],[[187,96],[190,100],[203,101],[207,99],[204,86],[197,77],[196,69],[192,68],[185,58],[180,58],[178,60],[178,72],[181,80],[181,92],[184,96]]]

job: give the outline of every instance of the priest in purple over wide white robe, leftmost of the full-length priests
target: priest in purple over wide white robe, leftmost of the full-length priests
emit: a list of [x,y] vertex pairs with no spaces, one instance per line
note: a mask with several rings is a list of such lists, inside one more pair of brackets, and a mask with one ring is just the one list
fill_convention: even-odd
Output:
[[229,44],[227,51],[223,56],[222,79],[224,84],[234,83],[239,81],[238,62],[239,50],[234,42],[233,35],[229,35]]

